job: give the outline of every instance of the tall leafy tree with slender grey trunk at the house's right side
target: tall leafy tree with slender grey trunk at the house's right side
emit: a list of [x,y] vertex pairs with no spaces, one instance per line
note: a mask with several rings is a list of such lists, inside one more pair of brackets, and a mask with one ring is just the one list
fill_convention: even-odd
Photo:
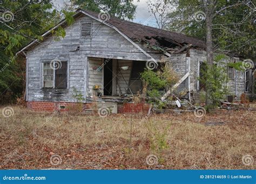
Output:
[[[177,2],[169,28],[206,40],[207,69],[213,66],[214,52],[239,53],[255,59],[255,5],[251,1]],[[207,88],[206,94],[210,96]],[[206,104],[211,103],[211,98],[206,97]]]

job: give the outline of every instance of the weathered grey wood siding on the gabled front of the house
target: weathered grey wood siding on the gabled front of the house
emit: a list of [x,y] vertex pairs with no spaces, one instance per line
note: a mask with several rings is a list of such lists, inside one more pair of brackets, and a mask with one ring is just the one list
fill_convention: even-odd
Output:
[[[81,37],[80,27],[82,22],[92,23],[91,38]],[[87,57],[126,60],[122,61],[123,63],[128,63],[127,60],[146,61],[150,59],[117,31],[87,16],[77,18],[73,25],[65,28],[65,31],[66,36],[64,39],[60,38],[59,41],[55,41],[53,37],[49,37],[26,52],[28,62],[28,101],[73,102],[75,99],[72,97],[72,87],[76,87],[84,96],[91,93],[92,86],[95,84],[93,81],[98,84],[100,75],[92,75],[92,70],[89,66],[93,64],[90,61],[87,62]],[[144,47],[143,45],[140,46]],[[152,53],[152,56],[156,60],[160,58],[160,54],[156,52]],[[53,59],[68,61],[69,86],[67,89],[42,88],[42,62]],[[99,62],[99,59],[94,59],[94,61]],[[131,61],[129,61],[129,65]],[[120,62],[120,65],[123,65],[122,62]],[[129,70],[122,71],[122,73],[124,73],[128,83]],[[119,74],[118,79],[123,93],[126,86]]]

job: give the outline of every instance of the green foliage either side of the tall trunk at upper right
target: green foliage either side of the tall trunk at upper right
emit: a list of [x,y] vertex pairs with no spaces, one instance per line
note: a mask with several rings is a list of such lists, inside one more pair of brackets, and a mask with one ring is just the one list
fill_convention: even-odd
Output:
[[[217,1],[215,9],[221,12],[214,16],[212,23],[214,52],[236,53],[253,60],[256,59],[255,3],[239,2],[242,1]],[[198,0],[177,1],[177,9],[170,14],[169,30],[206,39],[204,14],[196,18],[197,12],[204,11],[202,4]]]

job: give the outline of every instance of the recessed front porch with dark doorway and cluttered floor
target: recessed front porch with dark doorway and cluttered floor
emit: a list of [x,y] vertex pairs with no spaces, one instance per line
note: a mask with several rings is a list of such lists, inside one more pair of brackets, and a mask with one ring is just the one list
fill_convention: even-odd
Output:
[[133,61],[112,58],[87,58],[86,102],[131,101],[134,94],[143,88],[140,73],[146,61]]

